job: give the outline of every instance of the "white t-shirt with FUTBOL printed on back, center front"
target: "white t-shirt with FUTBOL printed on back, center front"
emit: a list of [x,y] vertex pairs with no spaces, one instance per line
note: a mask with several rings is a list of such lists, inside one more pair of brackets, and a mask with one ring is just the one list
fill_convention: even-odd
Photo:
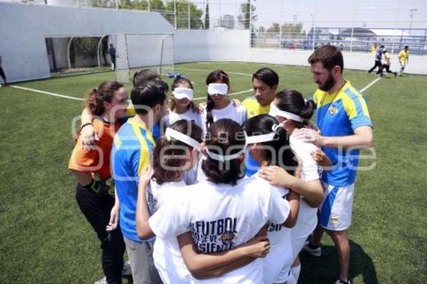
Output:
[[[236,186],[204,181],[187,189],[185,196],[162,206],[149,223],[160,238],[190,230],[200,253],[232,249],[253,238],[268,220],[280,224],[289,215],[289,203],[259,178],[241,179]],[[263,261],[256,259],[220,277],[194,281],[262,283]]]

